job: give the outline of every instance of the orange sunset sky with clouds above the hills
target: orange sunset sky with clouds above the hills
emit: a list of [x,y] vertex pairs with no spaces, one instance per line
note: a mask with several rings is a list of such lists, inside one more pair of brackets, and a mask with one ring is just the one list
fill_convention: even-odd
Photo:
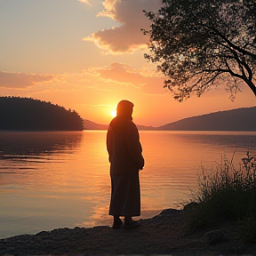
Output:
[[131,100],[136,124],[159,126],[188,116],[255,106],[247,86],[229,100],[225,86],[182,103],[143,55],[142,10],[161,0],[1,0],[1,96],[32,97],[108,124],[119,100]]

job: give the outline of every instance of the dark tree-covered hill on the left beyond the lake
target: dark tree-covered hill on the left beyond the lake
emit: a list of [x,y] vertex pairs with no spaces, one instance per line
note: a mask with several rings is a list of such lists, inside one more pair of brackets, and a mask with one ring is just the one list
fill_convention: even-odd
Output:
[[0,97],[0,120],[2,131],[83,130],[76,111],[31,98]]

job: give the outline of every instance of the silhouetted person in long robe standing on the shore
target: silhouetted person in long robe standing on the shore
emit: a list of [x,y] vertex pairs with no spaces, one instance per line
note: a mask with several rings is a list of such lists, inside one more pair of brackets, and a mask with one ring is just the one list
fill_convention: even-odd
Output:
[[139,132],[132,122],[132,102],[121,100],[116,117],[110,122],[107,134],[108,159],[110,162],[111,200],[109,215],[114,217],[112,228],[135,228],[140,216],[139,172],[144,167]]

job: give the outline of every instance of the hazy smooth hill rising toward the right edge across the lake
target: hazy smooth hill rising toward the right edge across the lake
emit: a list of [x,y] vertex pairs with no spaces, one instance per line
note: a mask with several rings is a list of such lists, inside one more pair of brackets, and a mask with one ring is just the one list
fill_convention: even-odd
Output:
[[236,108],[203,116],[193,116],[165,124],[167,131],[256,131],[256,107]]

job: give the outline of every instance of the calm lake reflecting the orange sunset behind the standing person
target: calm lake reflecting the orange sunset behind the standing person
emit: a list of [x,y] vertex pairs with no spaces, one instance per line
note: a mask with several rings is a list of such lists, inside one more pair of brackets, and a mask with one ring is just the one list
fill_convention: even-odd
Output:
[[[111,225],[105,142],[106,131],[0,132],[0,238]],[[256,155],[256,132],[140,131],[140,142],[141,219],[179,208],[201,166]]]

